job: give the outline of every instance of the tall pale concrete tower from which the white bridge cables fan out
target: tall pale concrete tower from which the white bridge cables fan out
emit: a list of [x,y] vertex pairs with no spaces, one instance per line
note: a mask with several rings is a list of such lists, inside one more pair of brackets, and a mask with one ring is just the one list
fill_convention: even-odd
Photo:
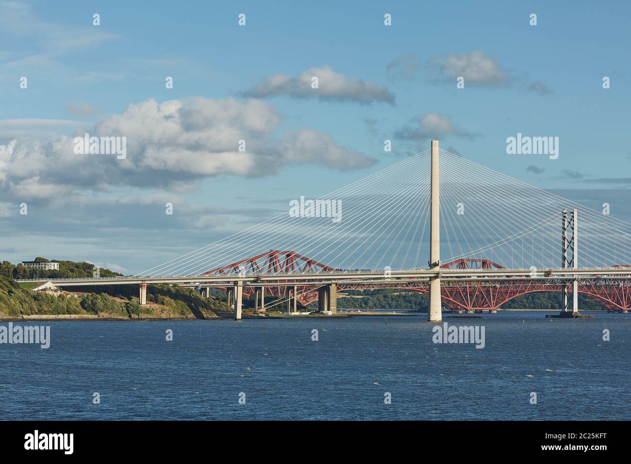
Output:
[[[439,188],[438,140],[432,140],[432,191],[430,228],[430,270],[440,270],[440,188]],[[440,277],[430,278],[429,307],[427,320],[442,321],[442,298]]]

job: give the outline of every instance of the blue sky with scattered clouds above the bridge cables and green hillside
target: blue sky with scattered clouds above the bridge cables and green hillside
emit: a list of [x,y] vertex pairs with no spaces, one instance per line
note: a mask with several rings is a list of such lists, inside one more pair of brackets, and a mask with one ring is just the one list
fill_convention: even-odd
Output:
[[[629,220],[630,9],[623,1],[0,1],[0,254],[134,273],[422,152],[430,138],[579,203],[607,201]],[[338,90],[326,98],[296,90],[314,69],[329,69]],[[463,89],[454,73],[465,75]],[[279,74],[293,86],[271,89],[266,80]],[[221,166],[240,161],[203,142],[191,149],[190,140],[175,162],[151,158],[181,148],[148,130],[153,109],[142,105],[151,99],[184,102],[192,126],[254,131],[251,165]],[[244,122],[252,100],[264,128]],[[56,148],[58,137],[136,126],[143,143],[123,167],[79,165]],[[405,128],[418,136],[406,138]],[[517,133],[557,136],[558,159],[508,155],[505,140]],[[131,144],[133,130],[127,137]],[[221,162],[206,163],[212,157]],[[204,160],[199,170],[195,160]]]

